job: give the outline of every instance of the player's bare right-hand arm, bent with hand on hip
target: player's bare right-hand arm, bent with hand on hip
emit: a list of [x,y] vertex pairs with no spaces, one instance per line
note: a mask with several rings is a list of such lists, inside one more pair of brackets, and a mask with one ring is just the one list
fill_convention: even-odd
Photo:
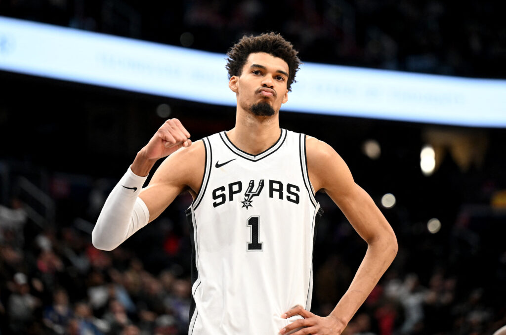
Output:
[[397,239],[374,201],[355,183],[341,156],[328,144],[315,138],[308,138],[306,147],[309,178],[315,191],[324,190],[339,206],[353,228],[367,242],[367,252],[350,287],[330,315],[320,317],[296,307],[283,317],[300,314],[305,319],[292,322],[280,333],[304,326],[306,328],[293,335],[341,334],[394,260]]

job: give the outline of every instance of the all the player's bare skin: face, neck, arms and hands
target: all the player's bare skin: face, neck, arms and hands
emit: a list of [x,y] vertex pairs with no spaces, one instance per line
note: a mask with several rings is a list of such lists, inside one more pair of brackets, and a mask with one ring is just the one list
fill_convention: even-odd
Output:
[[[235,127],[227,135],[239,149],[258,154],[278,140],[279,109],[288,101],[287,73],[288,64],[282,59],[267,53],[254,53],[248,56],[241,74],[230,78],[229,88],[236,94],[237,112]],[[258,102],[270,104],[275,114],[252,114],[249,108]],[[200,189],[205,150],[202,141],[192,144],[189,138],[190,134],[179,120],[167,120],[132,164],[135,174],[146,176],[156,160],[168,155],[140,194],[148,207],[150,222],[181,192],[187,190],[195,197]],[[304,327],[293,334],[341,334],[395,258],[397,239],[374,201],[355,183],[341,156],[316,138],[308,137],[306,147],[309,178],[315,191],[327,193],[339,206],[367,242],[367,252],[349,289],[330,315],[317,316],[297,306],[281,317],[300,314],[304,319],[290,323],[280,329],[280,333]]]

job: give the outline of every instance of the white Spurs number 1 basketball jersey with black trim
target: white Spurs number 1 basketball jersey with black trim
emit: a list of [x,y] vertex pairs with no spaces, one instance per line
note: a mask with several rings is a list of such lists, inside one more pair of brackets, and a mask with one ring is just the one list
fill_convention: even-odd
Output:
[[186,211],[192,228],[189,335],[276,335],[281,315],[310,309],[313,239],[323,211],[306,164],[306,136],[281,129],[248,154],[225,132],[202,140],[205,171]]

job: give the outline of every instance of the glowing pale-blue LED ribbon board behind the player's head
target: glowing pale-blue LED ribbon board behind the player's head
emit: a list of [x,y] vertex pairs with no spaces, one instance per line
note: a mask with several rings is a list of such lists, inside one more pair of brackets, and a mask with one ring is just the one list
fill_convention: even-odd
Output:
[[[224,54],[0,17],[0,70],[235,106],[225,63]],[[506,128],[506,80],[305,62],[292,88],[283,110]]]

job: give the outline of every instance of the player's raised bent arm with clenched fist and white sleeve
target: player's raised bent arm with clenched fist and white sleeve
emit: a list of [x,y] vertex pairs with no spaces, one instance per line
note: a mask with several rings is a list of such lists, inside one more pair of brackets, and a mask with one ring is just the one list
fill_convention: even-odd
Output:
[[[179,120],[167,120],[139,151],[102,208],[92,232],[96,248],[116,248],[156,219],[182,191],[188,189],[192,195],[198,192],[205,150],[201,141],[191,145],[189,137]],[[148,187],[142,189],[156,160],[167,155]]]

